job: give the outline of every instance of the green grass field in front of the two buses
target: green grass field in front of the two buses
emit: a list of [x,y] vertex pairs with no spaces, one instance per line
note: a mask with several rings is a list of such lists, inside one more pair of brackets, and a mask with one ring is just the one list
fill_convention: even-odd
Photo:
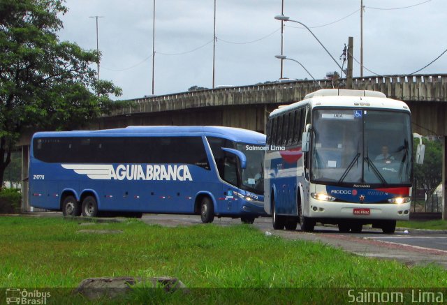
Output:
[[[98,235],[78,230],[123,232]],[[162,275],[175,276],[189,288],[447,286],[447,271],[441,267],[362,258],[323,244],[265,236],[251,225],[165,228],[138,220],[81,225],[64,218],[0,217],[0,237],[2,288],[74,288],[89,277]],[[214,290],[205,291],[208,300],[218,297]],[[253,292],[257,290],[231,291],[247,302],[254,300],[250,293],[259,295]],[[286,291],[281,290],[282,297]],[[312,291],[321,297],[318,290]],[[203,292],[200,295],[203,298]],[[151,298],[161,303],[166,297],[174,303],[185,301],[176,296],[157,292]],[[131,297],[138,302],[148,296],[145,290],[135,290]],[[195,293],[188,298],[191,304],[197,301]]]

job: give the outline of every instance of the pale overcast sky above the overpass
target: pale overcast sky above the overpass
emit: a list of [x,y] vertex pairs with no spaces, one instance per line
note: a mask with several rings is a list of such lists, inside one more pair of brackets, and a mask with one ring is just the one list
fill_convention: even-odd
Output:
[[[447,49],[447,1],[425,1],[363,1],[366,68],[381,75],[413,73]],[[96,49],[96,22],[89,16],[103,16],[98,19],[100,77],[122,87],[124,99],[152,94],[152,0],[67,0],[66,6],[59,38]],[[281,0],[217,0],[216,86],[279,79],[274,55],[281,52],[281,22],[274,16],[280,14]],[[340,65],[344,44],[353,36],[353,54],[360,61],[360,0],[284,0],[284,15],[310,27]],[[212,87],[213,16],[213,0],[156,0],[154,94]],[[316,79],[339,72],[309,31],[293,22],[285,25],[284,55]],[[420,73],[447,73],[447,53]],[[356,62],[353,74],[360,76]],[[284,61],[284,77],[309,75]]]

